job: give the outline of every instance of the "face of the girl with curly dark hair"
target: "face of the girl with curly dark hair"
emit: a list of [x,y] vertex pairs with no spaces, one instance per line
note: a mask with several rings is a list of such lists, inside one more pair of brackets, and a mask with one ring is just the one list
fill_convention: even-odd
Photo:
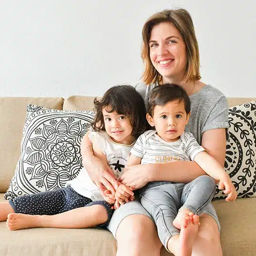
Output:
[[133,127],[130,118],[120,115],[115,111],[108,113],[108,107],[102,109],[106,133],[112,138],[113,142],[130,145],[135,141],[131,135]]

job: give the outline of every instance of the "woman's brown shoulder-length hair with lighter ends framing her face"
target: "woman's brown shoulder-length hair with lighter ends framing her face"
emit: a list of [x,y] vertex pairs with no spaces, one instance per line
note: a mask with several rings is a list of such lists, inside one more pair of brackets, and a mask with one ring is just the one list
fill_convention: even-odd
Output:
[[195,37],[195,29],[192,18],[187,10],[163,10],[153,14],[145,22],[142,29],[142,52],[141,57],[144,63],[142,80],[145,84],[162,81],[162,76],[154,68],[149,55],[149,40],[153,27],[162,22],[172,23],[180,31],[186,45],[187,64],[182,82],[197,81],[201,79],[199,72],[199,49]]

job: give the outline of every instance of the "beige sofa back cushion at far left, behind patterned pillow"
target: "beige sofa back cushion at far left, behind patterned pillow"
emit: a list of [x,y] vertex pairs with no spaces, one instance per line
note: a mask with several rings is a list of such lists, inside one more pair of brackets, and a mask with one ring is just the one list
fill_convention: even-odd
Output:
[[20,156],[20,141],[28,104],[62,109],[62,98],[0,97],[0,192],[5,192]]

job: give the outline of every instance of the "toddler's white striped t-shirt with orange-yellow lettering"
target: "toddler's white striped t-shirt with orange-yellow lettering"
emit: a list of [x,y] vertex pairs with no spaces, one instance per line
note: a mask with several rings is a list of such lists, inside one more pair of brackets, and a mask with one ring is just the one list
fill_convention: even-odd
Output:
[[194,160],[200,146],[192,133],[184,132],[175,142],[161,139],[155,130],[144,132],[134,144],[131,154],[141,157],[141,164],[167,163],[180,160]]

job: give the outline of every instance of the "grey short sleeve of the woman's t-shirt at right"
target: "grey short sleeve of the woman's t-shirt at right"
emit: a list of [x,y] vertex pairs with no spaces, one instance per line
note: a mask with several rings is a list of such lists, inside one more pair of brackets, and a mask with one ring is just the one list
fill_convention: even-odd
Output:
[[[226,97],[222,95],[218,102],[215,103],[212,111],[210,112],[205,125],[202,128],[201,133],[205,131],[218,129],[218,128],[228,128],[228,104]],[[227,129],[226,129],[227,131]]]

